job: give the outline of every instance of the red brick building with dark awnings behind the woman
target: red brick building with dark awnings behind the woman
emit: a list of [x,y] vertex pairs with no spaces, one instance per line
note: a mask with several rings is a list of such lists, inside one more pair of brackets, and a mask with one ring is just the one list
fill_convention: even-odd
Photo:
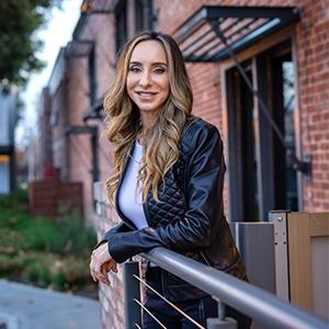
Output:
[[[268,212],[277,208],[328,211],[326,4],[326,0],[84,0],[72,42],[60,49],[43,93],[44,178],[56,172],[61,181],[82,181],[86,214],[92,214],[92,182],[111,174],[111,146],[99,137],[104,128],[102,100],[117,49],[136,31],[155,29],[174,35],[182,49],[188,46],[183,53],[194,90],[193,113],[215,124],[224,138],[229,219],[266,220]],[[226,11],[202,12],[202,5]],[[189,20],[193,14],[195,22],[200,20],[195,31]],[[310,175],[294,169],[261,102],[212,30],[213,19],[286,146],[300,162],[310,163]],[[193,41],[198,43],[190,45]]]

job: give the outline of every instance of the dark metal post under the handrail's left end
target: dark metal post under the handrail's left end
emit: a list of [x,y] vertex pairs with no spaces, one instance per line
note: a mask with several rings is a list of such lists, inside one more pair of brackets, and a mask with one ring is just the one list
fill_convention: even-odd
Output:
[[126,262],[123,268],[125,328],[136,329],[135,324],[140,325],[141,322],[140,307],[134,300],[140,300],[139,282],[134,277],[134,274],[139,276],[139,263],[135,261]]

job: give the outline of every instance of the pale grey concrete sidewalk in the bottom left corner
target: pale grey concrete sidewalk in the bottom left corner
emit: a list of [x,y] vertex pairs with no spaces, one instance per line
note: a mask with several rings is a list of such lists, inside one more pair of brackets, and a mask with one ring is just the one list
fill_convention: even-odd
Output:
[[0,328],[100,329],[100,303],[0,280]]

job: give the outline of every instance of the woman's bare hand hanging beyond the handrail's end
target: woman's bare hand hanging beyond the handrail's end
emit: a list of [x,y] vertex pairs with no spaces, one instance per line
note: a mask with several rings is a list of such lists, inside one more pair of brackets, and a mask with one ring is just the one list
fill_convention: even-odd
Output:
[[107,272],[117,273],[116,262],[110,256],[109,245],[103,243],[98,249],[92,251],[90,261],[90,272],[94,282],[98,280],[110,285]]

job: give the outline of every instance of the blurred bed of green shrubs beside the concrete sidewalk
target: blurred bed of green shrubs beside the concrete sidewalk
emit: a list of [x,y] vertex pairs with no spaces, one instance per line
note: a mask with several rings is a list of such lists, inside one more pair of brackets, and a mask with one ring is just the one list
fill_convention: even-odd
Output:
[[19,277],[57,291],[94,284],[89,261],[95,232],[79,213],[64,212],[52,223],[30,216],[27,208],[26,190],[0,195],[0,277]]

